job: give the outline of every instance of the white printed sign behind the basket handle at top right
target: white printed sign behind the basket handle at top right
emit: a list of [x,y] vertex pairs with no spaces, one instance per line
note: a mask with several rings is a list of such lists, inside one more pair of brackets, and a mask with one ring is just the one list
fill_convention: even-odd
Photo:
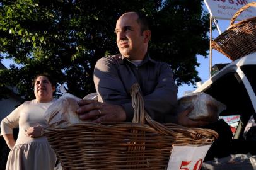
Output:
[[[251,2],[253,2],[253,0],[204,0],[211,16],[224,20],[231,20],[236,11]],[[237,20],[245,20],[246,18],[255,16],[256,9],[252,7],[243,11],[243,13],[238,16]]]

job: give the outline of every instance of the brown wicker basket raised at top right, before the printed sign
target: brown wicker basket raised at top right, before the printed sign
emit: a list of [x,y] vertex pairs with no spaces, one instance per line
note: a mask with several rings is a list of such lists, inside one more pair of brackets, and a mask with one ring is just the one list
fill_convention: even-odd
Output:
[[250,6],[256,7],[256,2],[240,8],[231,19],[228,29],[212,41],[212,48],[232,61],[256,52],[256,17],[234,24],[236,18]]

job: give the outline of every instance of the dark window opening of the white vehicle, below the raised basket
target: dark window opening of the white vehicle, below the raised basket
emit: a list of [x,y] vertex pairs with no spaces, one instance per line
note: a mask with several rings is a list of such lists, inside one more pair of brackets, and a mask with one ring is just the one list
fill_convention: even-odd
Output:
[[240,115],[238,127],[233,129],[235,131],[233,138],[243,139],[245,125],[255,111],[240,76],[236,72],[224,74],[204,92],[226,105],[226,110],[222,111],[220,116]]

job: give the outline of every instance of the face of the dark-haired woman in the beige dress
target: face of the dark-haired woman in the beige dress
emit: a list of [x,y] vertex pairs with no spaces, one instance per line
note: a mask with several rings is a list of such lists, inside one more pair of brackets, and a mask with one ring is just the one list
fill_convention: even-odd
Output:
[[55,88],[52,83],[45,76],[38,76],[35,80],[34,93],[35,98],[39,102],[49,102],[53,99],[52,93]]

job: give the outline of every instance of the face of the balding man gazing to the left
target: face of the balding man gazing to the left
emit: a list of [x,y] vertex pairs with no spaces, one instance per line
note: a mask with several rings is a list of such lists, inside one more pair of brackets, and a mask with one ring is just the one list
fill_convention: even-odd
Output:
[[143,60],[147,48],[148,40],[145,31],[141,34],[141,26],[137,23],[136,13],[126,13],[122,15],[115,26],[117,35],[117,47],[120,53],[132,60]]

